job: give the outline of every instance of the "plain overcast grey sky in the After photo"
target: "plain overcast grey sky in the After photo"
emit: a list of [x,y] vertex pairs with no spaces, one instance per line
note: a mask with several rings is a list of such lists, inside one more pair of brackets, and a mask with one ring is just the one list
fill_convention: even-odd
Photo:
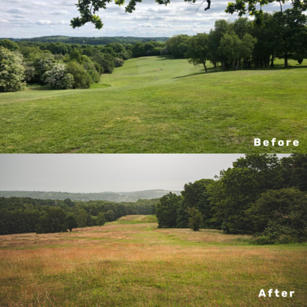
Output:
[[0,190],[180,191],[187,182],[213,179],[239,157],[244,155],[0,155]]

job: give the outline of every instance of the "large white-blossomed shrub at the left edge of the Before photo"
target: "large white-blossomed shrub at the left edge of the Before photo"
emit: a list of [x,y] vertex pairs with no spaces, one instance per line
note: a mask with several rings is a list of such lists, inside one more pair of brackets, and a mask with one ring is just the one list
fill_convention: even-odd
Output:
[[0,47],[0,92],[25,89],[25,67],[21,54]]

